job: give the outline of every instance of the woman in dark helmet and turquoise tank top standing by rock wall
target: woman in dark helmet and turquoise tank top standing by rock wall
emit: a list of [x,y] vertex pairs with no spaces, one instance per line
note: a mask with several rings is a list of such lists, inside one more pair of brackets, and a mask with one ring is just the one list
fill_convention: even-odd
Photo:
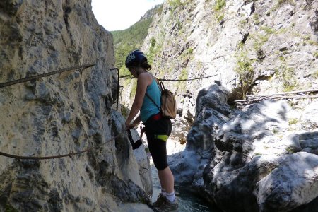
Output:
[[[133,129],[141,121],[145,124],[148,148],[153,158],[153,163],[158,170],[161,192],[153,206],[158,211],[178,211],[175,199],[175,179],[167,165],[166,142],[172,131],[169,118],[163,117],[157,105],[160,102],[160,88],[155,78],[148,70],[151,65],[143,52],[134,50],[129,53],[125,61],[126,68],[137,78],[136,95],[126,119],[126,128]],[[146,93],[155,101],[152,102]],[[155,105],[156,104],[156,105]],[[138,117],[136,115],[139,113]],[[136,117],[134,122],[132,120]]]

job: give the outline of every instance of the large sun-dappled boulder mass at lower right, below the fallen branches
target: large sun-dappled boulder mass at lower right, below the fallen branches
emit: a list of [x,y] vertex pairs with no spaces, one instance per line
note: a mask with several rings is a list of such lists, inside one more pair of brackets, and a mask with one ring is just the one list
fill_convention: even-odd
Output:
[[218,131],[214,141],[222,160],[210,158],[204,184],[220,208],[291,211],[318,196],[317,155],[300,153],[306,151],[299,139],[304,133],[283,136],[290,134],[291,110],[285,102],[261,102]]

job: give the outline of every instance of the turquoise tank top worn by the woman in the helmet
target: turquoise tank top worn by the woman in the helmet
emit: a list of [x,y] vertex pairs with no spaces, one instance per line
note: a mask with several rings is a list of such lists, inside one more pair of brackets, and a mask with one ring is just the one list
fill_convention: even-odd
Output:
[[[161,107],[161,91],[159,90],[158,83],[155,81],[154,78],[152,83],[147,86],[146,93],[155,101],[155,103],[159,107]],[[140,117],[142,122],[146,122],[149,117],[160,112],[157,105],[155,105],[153,101],[151,101],[151,99],[149,99],[148,96],[145,94],[145,97],[143,98],[143,105],[141,106],[140,110]]]

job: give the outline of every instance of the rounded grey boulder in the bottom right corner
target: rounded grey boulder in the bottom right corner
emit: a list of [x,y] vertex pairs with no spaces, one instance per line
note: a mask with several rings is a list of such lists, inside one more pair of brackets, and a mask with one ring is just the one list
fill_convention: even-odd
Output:
[[257,182],[260,211],[291,211],[318,196],[318,156],[295,153]]

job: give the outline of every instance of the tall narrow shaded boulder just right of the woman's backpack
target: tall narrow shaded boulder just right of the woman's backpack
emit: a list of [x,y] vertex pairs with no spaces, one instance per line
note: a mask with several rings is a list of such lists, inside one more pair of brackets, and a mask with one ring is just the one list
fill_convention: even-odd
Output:
[[[202,172],[208,159],[215,154],[213,138],[216,131],[234,115],[226,103],[228,94],[226,88],[216,84],[199,92],[196,99],[196,102],[201,102],[197,107],[199,115],[187,134],[186,149],[169,158],[177,184],[203,187]],[[212,110],[212,105],[218,110]]]

